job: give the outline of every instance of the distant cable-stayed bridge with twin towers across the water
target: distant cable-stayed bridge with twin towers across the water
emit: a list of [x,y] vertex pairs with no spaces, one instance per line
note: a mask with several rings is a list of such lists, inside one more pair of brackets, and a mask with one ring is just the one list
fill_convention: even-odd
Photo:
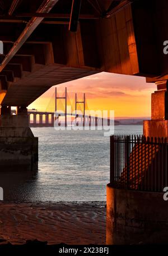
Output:
[[[60,101],[64,101],[64,104]],[[54,111],[28,110],[30,127],[53,127],[54,122],[55,125],[65,127],[69,125],[97,127],[113,123],[113,119],[110,120],[102,116],[102,111],[97,111],[95,115],[92,114],[94,111],[91,111],[90,114],[85,93],[83,93],[82,100],[79,100],[77,93],[75,93],[74,104],[72,104],[67,93],[67,87],[63,96],[59,96],[57,88],[55,88],[54,105]]]

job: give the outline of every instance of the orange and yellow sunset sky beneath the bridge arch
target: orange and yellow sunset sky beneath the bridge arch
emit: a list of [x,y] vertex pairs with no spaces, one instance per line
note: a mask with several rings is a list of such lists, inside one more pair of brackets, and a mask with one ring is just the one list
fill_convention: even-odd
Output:
[[[155,84],[146,83],[143,77],[105,72],[59,84],[59,95],[64,93],[65,87],[73,100],[75,92],[78,100],[85,92],[89,110],[114,110],[116,117],[151,116],[151,93],[156,90]],[[54,111],[54,91],[55,86],[34,101],[29,109]]]

